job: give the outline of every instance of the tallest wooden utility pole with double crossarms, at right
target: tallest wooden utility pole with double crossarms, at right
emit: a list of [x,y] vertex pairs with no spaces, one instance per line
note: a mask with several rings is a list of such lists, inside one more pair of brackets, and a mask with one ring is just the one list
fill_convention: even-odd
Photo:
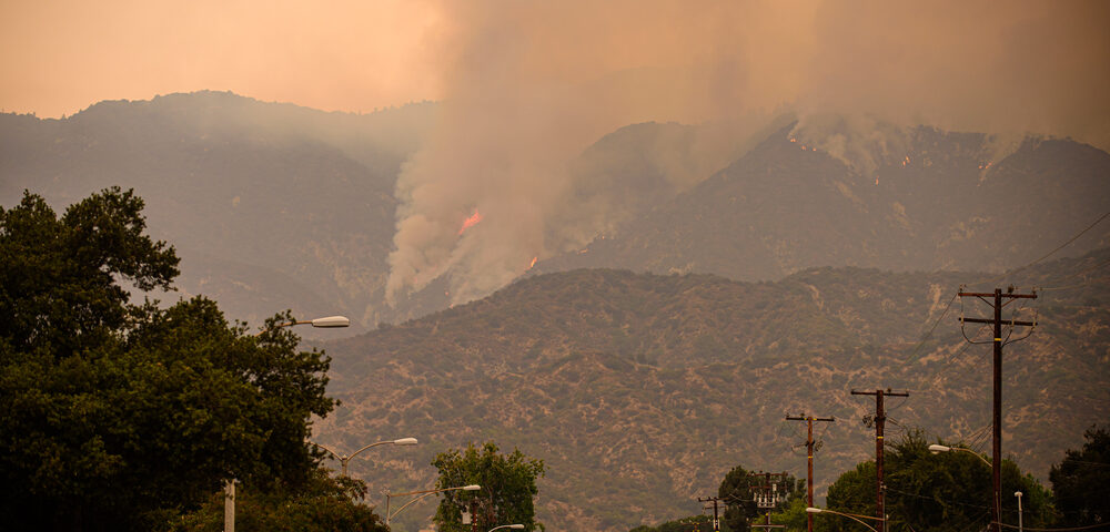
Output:
[[[1002,324],[1008,324],[1010,326],[1010,329],[1011,329],[1010,331],[1011,332],[1012,332],[1012,328],[1017,327],[1017,326],[1022,326],[1022,327],[1036,327],[1037,326],[1036,321],[1018,321],[1016,319],[1010,319],[1010,320],[1002,321],[1002,298],[1007,298],[1007,299],[1036,299],[1037,298],[1037,294],[1013,294],[1013,287],[1010,287],[1010,289],[1007,290],[1006,294],[1002,294],[1002,289],[1001,288],[995,288],[995,293],[993,294],[985,294],[985,293],[963,291],[963,288],[960,287],[959,296],[960,297],[978,297],[980,300],[987,303],[988,305],[991,305],[995,308],[995,317],[993,318],[965,318],[963,316],[960,316],[960,324],[961,324],[961,326],[962,326],[962,324],[990,324],[990,325],[995,326],[995,339],[992,341],[992,344],[995,345],[995,364],[993,364],[993,367],[995,367],[995,371],[993,371],[995,372],[995,376],[993,376],[995,377],[993,378],[993,380],[995,380],[995,400],[993,400],[995,411],[993,411],[993,416],[991,417],[991,424],[993,426],[993,429],[995,429],[993,430],[993,437],[991,438],[991,440],[992,440],[992,442],[991,442],[991,481],[992,481],[993,488],[995,488],[995,493],[993,493],[993,499],[995,500],[992,501],[992,503],[990,505],[990,520],[991,520],[991,525],[990,526],[991,526],[991,530],[993,530],[995,532],[1001,532],[1002,528],[1001,528],[1001,524],[1000,524],[1001,523],[1000,519],[1001,519],[1001,514],[1002,514],[1002,345],[1005,344],[1003,340],[1002,340]],[[986,299],[988,297],[992,298],[993,300],[991,301],[991,300]],[[1029,332],[1032,334],[1032,329],[1030,329]],[[1022,339],[1022,338],[1026,338],[1029,335],[1026,335],[1026,336],[1023,336],[1021,338],[1018,338],[1018,339]],[[963,338],[967,338],[967,331],[963,332]],[[1009,337],[1007,337],[1007,338],[1009,338]],[[967,339],[968,339],[968,341],[971,341],[970,338],[967,338]],[[1011,340],[1011,341],[1016,341],[1016,340]],[[971,342],[972,344],[981,344],[981,342],[976,342],[976,341],[971,341]]]

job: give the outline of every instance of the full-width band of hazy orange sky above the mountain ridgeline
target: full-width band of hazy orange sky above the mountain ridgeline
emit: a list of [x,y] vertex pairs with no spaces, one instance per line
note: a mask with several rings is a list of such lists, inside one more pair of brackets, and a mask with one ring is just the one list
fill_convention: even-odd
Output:
[[101,100],[208,89],[369,112],[495,85],[562,96],[574,85],[584,104],[619,102],[629,120],[698,121],[790,103],[1106,145],[1108,6],[4,1],[0,109],[59,116]]

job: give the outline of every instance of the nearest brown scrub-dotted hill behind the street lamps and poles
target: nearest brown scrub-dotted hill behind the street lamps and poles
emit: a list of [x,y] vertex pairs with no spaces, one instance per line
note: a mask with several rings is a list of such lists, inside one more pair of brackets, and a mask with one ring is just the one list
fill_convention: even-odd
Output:
[[[1032,305],[1042,325],[1007,347],[1003,374],[1003,448],[1042,478],[1110,409],[1108,265],[1101,250],[1007,279],[1046,287]],[[820,434],[825,484],[874,452],[874,434],[858,422],[874,405],[852,388],[911,391],[888,406],[892,436],[921,427],[983,443],[989,346],[965,342],[953,296],[985,277],[859,268],[777,283],[536,276],[329,344],[330,386],[343,405],[317,423],[316,438],[344,450],[420,438],[418,448],[353,464],[372,492],[430,485],[427,464],[445,448],[487,439],[519,447],[551,467],[541,483],[551,530],[615,531],[696,512],[693,499],[738,463],[804,474],[804,427],[783,419],[804,411],[839,420]],[[1020,319],[1029,318],[1026,309]],[[416,509],[398,530],[416,530],[432,511]]]

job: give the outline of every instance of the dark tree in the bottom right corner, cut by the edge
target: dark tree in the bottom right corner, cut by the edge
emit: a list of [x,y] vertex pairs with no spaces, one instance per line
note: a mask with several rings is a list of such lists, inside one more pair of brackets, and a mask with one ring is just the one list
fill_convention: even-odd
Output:
[[1081,450],[1068,450],[1048,479],[1062,524],[1110,523],[1110,431],[1091,427]]

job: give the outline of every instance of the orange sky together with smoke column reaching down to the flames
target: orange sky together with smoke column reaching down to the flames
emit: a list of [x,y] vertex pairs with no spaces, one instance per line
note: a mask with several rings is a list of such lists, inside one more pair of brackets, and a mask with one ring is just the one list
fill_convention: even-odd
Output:
[[[565,162],[630,123],[714,122],[735,143],[790,112],[865,173],[880,122],[988,133],[998,155],[1028,133],[1110,150],[1108,25],[1104,0],[7,0],[0,109],[440,101],[398,176],[387,288],[450,270],[462,301],[597,234],[614,206],[567,211]],[[476,209],[491,222],[458,235]],[[584,225],[552,237],[553,219]]]

